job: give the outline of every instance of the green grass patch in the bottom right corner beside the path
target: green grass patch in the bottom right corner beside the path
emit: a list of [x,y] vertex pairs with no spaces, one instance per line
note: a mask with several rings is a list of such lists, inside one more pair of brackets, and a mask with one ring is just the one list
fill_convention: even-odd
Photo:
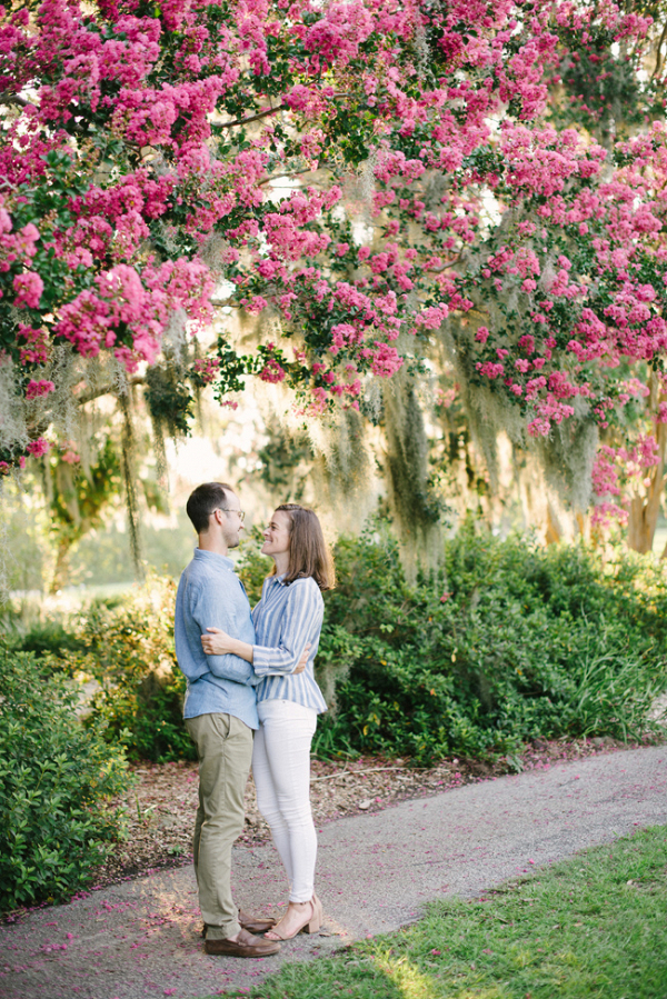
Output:
[[667,828],[579,853],[485,900],[286,965],[242,999],[665,999]]

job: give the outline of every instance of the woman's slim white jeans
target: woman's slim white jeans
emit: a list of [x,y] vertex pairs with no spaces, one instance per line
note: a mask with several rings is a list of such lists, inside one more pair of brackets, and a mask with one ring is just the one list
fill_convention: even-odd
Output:
[[252,746],[257,805],[287,871],[290,902],[308,902],[317,858],[310,811],[310,742],[317,712],[278,699],[260,701],[257,711],[260,726]]

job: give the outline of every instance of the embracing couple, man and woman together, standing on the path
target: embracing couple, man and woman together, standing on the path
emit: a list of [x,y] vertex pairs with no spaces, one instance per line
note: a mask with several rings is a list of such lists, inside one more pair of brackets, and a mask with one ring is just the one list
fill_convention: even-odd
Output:
[[[321,926],[310,742],[327,706],[312,665],[321,590],[334,586],[334,563],[312,510],[278,507],[261,549],[273,558],[273,572],[251,612],[228,557],[243,529],[238,496],[230,486],[208,482],[195,489],[187,511],[199,545],[179,583],[175,639],[188,680],[186,727],[199,757],[193,852],[205,949],[266,957],[281,940]],[[259,810],[290,886],[277,925],[239,912],[231,898],[231,847],[243,827],[250,765]]]

